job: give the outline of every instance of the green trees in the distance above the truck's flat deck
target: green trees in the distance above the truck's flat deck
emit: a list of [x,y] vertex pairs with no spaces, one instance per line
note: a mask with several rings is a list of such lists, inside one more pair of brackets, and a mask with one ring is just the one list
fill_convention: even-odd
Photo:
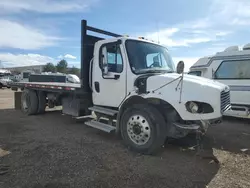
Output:
[[68,67],[68,63],[64,59],[59,61],[56,65],[54,65],[53,63],[47,63],[43,68],[43,72],[60,72],[80,76],[80,69],[76,68],[75,66]]

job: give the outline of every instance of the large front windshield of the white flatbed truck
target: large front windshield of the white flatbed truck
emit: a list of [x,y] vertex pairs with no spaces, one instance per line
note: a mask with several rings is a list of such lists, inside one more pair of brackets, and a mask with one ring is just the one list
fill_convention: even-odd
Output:
[[126,49],[131,69],[135,74],[175,71],[173,60],[163,46],[127,40]]

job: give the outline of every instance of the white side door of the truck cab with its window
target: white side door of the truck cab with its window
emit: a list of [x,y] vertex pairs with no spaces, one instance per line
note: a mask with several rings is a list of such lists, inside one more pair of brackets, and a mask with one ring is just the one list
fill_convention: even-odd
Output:
[[126,63],[121,42],[102,44],[92,69],[94,105],[118,107],[126,97]]

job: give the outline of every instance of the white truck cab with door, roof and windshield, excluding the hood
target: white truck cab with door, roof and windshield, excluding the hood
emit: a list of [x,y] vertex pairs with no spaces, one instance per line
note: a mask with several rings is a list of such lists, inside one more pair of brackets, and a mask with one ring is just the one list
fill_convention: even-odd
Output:
[[146,94],[147,83],[140,85],[143,79],[175,71],[165,47],[127,37],[97,42],[92,63],[93,103],[111,107],[119,107],[135,87]]

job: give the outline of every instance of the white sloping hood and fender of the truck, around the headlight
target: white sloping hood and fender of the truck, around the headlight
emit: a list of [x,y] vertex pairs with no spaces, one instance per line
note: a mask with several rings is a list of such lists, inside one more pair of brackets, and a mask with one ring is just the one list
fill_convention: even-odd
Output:
[[[179,79],[178,79],[179,78]],[[142,80],[144,81],[144,80]],[[184,120],[213,119],[221,117],[221,93],[229,87],[202,77],[184,74],[183,82],[181,75],[167,73],[151,75],[146,81],[140,82],[138,91],[145,98],[158,98],[172,105]],[[187,111],[185,104],[189,101],[209,104],[213,113],[192,114]]]

